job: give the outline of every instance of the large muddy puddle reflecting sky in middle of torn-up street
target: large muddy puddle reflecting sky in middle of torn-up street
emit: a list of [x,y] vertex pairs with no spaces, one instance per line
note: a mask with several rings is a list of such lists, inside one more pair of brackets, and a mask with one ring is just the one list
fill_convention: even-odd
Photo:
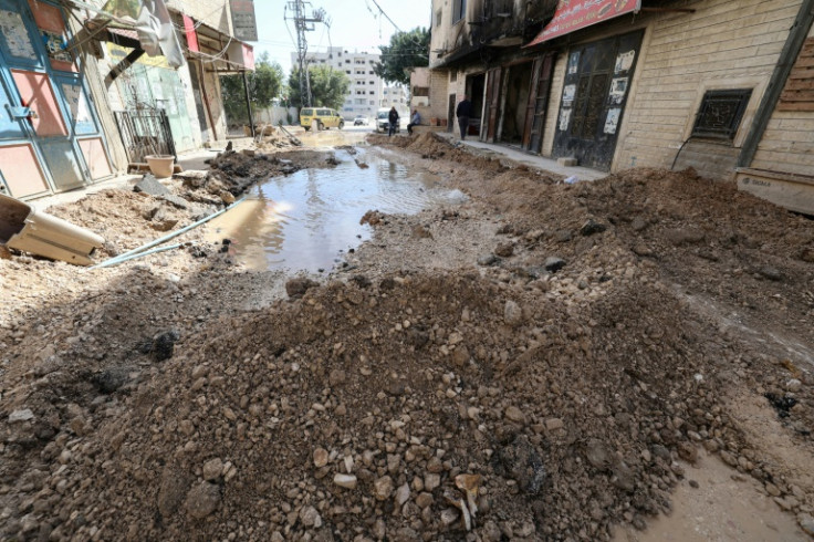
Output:
[[438,177],[363,149],[337,150],[330,169],[303,169],[255,185],[246,201],[212,220],[207,237],[229,239],[233,258],[249,269],[328,271],[343,251],[369,239],[359,225],[371,209],[413,215],[465,199],[439,187]]

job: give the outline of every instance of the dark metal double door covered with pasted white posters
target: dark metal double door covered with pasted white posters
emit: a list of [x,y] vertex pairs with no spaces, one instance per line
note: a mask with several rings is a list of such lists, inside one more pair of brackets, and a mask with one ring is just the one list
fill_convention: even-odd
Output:
[[644,32],[572,49],[565,71],[554,156],[609,170]]

